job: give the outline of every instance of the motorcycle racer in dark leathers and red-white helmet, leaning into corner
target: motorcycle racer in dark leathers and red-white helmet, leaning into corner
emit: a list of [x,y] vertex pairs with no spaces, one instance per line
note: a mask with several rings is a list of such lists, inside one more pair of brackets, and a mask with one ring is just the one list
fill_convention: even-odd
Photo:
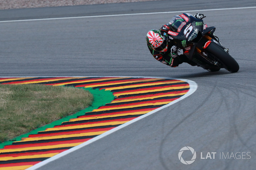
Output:
[[[204,18],[204,14],[196,13],[193,17]],[[183,54],[178,55],[178,46],[167,33],[172,30],[170,23],[163,25],[159,30],[152,29],[147,33],[146,40],[150,53],[156,60],[171,67],[177,67],[181,63],[195,66],[196,63],[188,59],[189,49],[184,49]]]

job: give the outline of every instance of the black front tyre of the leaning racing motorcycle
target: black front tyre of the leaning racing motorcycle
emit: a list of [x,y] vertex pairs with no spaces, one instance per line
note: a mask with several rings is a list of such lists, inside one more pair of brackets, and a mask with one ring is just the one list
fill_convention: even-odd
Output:
[[214,55],[214,58],[219,60],[223,68],[225,68],[226,70],[232,73],[235,73],[239,70],[239,65],[236,60],[226,51],[220,48],[217,44],[211,42],[206,50]]

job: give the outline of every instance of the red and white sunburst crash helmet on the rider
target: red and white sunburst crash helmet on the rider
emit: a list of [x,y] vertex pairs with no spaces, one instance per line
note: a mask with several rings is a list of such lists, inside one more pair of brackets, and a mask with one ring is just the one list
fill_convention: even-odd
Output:
[[165,52],[167,51],[168,44],[166,37],[162,35],[159,30],[153,29],[147,33],[147,43],[156,51]]

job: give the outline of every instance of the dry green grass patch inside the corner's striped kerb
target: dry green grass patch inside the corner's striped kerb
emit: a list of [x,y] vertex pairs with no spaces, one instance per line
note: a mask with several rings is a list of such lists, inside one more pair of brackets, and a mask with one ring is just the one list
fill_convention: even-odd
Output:
[[92,94],[81,88],[0,85],[0,143],[72,115],[92,100]]

